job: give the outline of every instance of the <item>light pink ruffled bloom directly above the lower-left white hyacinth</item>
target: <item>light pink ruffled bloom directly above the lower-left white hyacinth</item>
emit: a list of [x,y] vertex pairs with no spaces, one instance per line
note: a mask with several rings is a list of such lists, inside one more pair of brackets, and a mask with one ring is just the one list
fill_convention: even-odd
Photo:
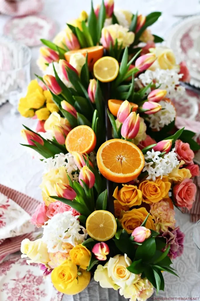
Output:
[[47,208],[46,215],[51,219],[55,214],[63,213],[65,211],[71,211],[72,216],[80,215],[78,211],[60,201],[51,203]]

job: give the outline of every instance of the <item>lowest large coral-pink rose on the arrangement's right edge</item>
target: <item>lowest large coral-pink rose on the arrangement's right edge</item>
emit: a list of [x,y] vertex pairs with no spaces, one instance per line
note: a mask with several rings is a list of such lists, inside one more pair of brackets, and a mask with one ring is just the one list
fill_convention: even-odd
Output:
[[185,179],[173,188],[174,200],[177,206],[191,209],[195,201],[196,185],[191,179]]

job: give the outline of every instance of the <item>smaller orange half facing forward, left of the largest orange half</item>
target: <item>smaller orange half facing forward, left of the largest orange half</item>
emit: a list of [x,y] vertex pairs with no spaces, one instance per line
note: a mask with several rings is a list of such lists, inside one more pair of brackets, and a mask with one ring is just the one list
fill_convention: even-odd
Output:
[[65,140],[65,146],[69,153],[79,151],[80,153],[91,153],[96,146],[96,135],[89,126],[76,126],[72,129]]

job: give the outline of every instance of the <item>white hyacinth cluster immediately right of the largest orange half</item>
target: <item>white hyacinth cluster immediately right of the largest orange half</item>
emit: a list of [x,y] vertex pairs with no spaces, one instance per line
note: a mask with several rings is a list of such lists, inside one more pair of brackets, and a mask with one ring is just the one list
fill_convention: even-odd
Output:
[[143,169],[143,172],[147,171],[149,174],[147,180],[155,181],[157,177],[162,179],[163,175],[168,175],[172,172],[172,169],[179,165],[175,148],[163,157],[159,157],[160,154],[160,151],[154,151],[153,149],[147,152],[145,160],[151,160],[151,162],[145,161]]

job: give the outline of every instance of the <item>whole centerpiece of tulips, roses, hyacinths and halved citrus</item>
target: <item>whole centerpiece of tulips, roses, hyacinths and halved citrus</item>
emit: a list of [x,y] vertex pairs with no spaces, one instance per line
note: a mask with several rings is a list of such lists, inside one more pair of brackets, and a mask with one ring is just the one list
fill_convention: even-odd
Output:
[[184,233],[174,206],[190,209],[199,175],[194,133],[175,129],[172,98],[184,93],[184,63],[148,28],[147,16],[114,11],[112,0],[42,40],[38,65],[19,112],[38,118],[25,127],[25,146],[45,173],[31,222],[43,228],[22,241],[22,257],[38,263],[65,294],[101,287],[130,300],[164,290],[162,272],[176,275]]

